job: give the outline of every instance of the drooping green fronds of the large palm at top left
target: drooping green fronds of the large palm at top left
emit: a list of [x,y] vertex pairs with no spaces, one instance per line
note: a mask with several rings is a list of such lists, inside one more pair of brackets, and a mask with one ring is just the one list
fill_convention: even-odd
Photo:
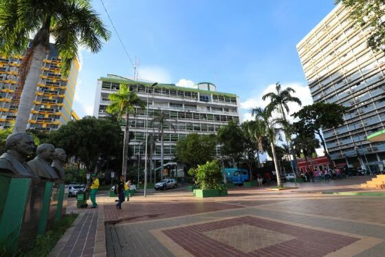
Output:
[[[66,74],[81,45],[99,52],[110,32],[89,0],[39,0],[0,2],[0,52],[23,54],[30,42],[49,47],[50,37],[62,59]],[[25,68],[25,67],[23,67]]]

